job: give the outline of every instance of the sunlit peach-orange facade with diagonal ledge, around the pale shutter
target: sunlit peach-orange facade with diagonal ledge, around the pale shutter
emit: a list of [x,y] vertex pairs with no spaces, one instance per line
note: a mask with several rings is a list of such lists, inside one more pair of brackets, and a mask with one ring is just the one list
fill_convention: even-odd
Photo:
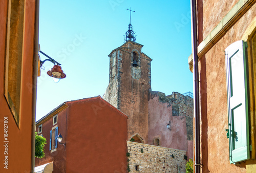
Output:
[[[256,170],[255,2],[254,0],[197,1],[198,30],[196,32],[198,33],[197,55],[199,56],[202,172],[223,172],[223,170],[225,172],[255,172]],[[240,131],[235,129],[236,125],[240,125],[233,125],[233,120],[229,120],[229,117],[234,119],[234,115],[233,110],[229,111],[230,101],[227,92],[230,92],[230,85],[227,83],[230,81],[230,75],[228,69],[236,61],[226,66],[228,60],[225,58],[230,56],[226,48],[240,40],[245,41],[247,45],[244,47],[245,54],[241,56],[245,59],[244,68],[247,77],[247,80],[243,82],[245,86],[247,85],[244,88],[247,89],[247,94],[243,93],[243,95],[248,98],[248,113],[246,113],[248,124],[245,126],[248,130],[248,143],[243,146],[248,148],[249,158],[233,161],[236,146],[232,143],[239,142],[245,137],[241,138]],[[191,56],[188,62],[190,70],[193,70]],[[239,119],[242,122],[242,116]]]

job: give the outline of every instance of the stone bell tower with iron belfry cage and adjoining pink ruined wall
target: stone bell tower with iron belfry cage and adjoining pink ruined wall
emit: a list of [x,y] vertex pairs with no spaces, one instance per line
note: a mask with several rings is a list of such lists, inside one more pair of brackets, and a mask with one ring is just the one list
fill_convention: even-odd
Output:
[[124,39],[109,54],[109,86],[102,98],[129,116],[128,141],[186,150],[193,158],[193,98],[151,91],[152,59],[135,42],[131,24]]

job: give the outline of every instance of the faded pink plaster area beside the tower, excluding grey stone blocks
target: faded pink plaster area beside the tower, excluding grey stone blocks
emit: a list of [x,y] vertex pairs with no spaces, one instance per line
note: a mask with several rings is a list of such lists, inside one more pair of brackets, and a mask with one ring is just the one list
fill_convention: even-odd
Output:
[[[171,130],[166,127],[169,121]],[[172,104],[159,102],[158,97],[150,99],[148,122],[149,144],[159,138],[160,146],[187,151],[186,119],[185,116],[172,116]]]

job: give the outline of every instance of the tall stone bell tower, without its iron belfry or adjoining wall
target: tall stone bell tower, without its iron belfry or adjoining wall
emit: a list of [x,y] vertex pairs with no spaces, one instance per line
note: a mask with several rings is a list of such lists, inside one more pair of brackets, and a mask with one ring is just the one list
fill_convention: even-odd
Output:
[[147,143],[152,59],[142,47],[129,39],[110,53],[110,81],[103,99],[130,117],[128,138],[137,134],[140,139],[135,140]]

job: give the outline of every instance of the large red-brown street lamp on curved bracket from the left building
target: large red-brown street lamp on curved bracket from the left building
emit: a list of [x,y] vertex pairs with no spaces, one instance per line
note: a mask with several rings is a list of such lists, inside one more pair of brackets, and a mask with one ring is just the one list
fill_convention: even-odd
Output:
[[42,66],[42,64],[44,64],[46,61],[50,61],[54,64],[53,68],[51,70],[49,70],[47,72],[47,74],[52,77],[52,79],[55,83],[59,82],[60,79],[63,79],[63,78],[66,77],[66,74],[63,73],[63,71],[61,70],[61,67],[60,67],[61,64],[60,63],[55,61],[53,58],[51,58],[50,56],[48,56],[44,52],[42,52],[40,50],[39,50],[39,52],[41,54],[45,55],[46,57],[48,57],[48,59],[45,59],[45,60],[42,60],[42,61],[40,60],[40,68],[41,69],[45,70],[44,68],[42,68],[42,67],[44,67],[44,66]]

